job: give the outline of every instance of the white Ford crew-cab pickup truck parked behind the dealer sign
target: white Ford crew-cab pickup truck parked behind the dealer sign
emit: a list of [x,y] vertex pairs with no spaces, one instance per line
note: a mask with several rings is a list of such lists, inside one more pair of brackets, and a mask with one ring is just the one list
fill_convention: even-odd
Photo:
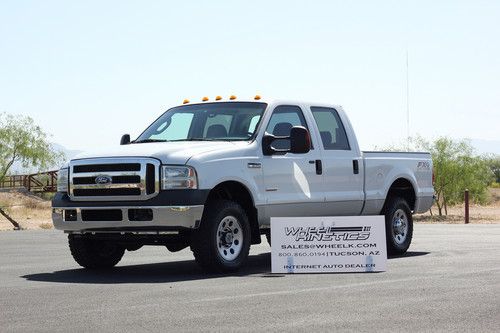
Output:
[[270,242],[278,216],[382,214],[389,253],[404,253],[412,213],[433,193],[428,153],[361,152],[340,106],[218,97],[185,101],[137,139],[72,159],[52,212],[83,267],[163,245],[190,246],[221,272],[241,267],[261,235]]

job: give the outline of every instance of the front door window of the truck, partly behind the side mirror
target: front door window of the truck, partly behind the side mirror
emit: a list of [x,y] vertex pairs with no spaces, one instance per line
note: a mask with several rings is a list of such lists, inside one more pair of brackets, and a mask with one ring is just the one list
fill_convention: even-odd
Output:
[[[295,105],[280,105],[273,111],[266,132],[275,136],[289,136],[293,126],[307,128],[302,110]],[[272,144],[276,149],[290,149],[289,140],[275,140]]]

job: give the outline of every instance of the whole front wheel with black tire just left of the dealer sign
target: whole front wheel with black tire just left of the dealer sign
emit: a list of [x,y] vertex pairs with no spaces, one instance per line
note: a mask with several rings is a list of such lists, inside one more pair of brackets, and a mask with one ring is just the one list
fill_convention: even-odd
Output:
[[245,211],[229,200],[213,201],[205,209],[191,242],[196,262],[209,272],[238,270],[250,251],[251,232]]

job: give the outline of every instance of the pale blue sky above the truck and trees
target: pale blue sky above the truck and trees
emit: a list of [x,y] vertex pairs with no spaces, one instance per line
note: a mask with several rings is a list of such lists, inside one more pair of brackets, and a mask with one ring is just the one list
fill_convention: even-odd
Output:
[[138,135],[184,98],[341,104],[363,149],[499,140],[500,1],[0,2],[0,112],[70,149]]

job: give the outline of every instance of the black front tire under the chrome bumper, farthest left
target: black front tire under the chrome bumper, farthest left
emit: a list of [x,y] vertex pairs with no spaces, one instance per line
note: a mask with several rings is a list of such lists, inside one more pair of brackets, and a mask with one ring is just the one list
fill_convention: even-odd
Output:
[[111,268],[118,264],[125,248],[118,244],[68,235],[69,249],[73,259],[82,267],[90,269]]

